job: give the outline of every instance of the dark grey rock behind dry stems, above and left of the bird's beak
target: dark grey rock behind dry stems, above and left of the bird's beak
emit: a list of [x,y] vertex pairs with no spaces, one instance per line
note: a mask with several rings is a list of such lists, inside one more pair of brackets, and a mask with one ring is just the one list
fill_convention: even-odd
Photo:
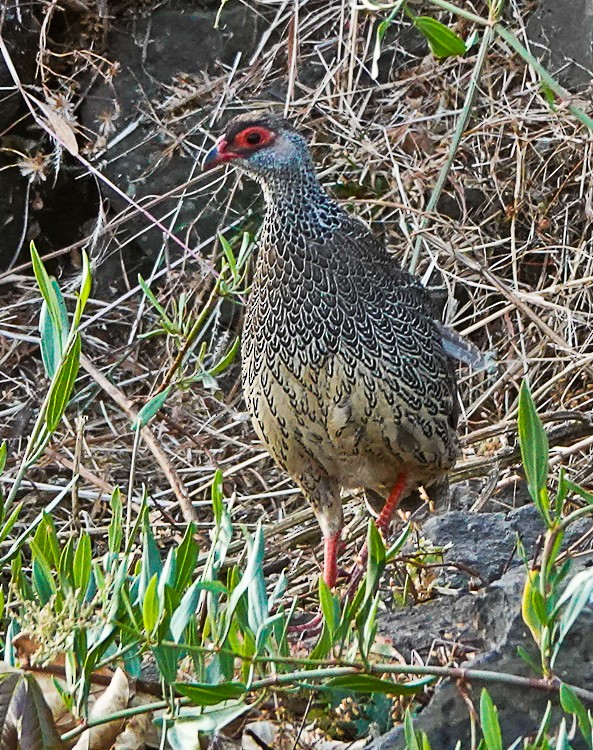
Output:
[[[210,6],[210,3],[206,3]],[[105,56],[118,72],[112,81],[97,80],[81,107],[84,127],[97,134],[95,163],[128,196],[142,203],[186,184],[201,172],[212,102],[222,95],[222,79],[240,56],[247,64],[265,26],[265,16],[243,3],[225,5],[214,28],[218,4],[162,8],[150,18],[114,23]],[[214,93],[213,95],[213,92]],[[209,109],[210,108],[210,109]],[[214,126],[217,135],[221,124]],[[119,139],[119,140],[118,140]],[[101,150],[103,149],[103,150]],[[222,220],[224,191],[179,191],[150,209],[190,246],[215,234]],[[247,198],[248,194],[244,194]],[[129,204],[109,191],[114,211]],[[182,231],[181,231],[182,230]],[[122,263],[135,271],[151,267],[163,246],[163,234],[135,216],[125,231],[135,235],[125,251],[112,253],[98,270],[97,288],[121,276]],[[172,257],[180,250],[169,243]],[[106,252],[109,255],[109,251]],[[114,291],[113,289],[111,291]],[[99,292],[101,293],[101,291]]]

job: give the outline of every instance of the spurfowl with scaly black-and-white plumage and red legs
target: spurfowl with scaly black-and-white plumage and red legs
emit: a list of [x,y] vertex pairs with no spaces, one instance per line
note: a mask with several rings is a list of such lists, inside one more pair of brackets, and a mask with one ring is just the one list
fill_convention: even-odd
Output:
[[243,331],[243,388],[260,439],[312,504],[334,586],[340,489],[402,496],[458,453],[451,355],[424,287],[319,184],[305,139],[269,114],[235,117],[204,168],[257,180],[267,212]]

